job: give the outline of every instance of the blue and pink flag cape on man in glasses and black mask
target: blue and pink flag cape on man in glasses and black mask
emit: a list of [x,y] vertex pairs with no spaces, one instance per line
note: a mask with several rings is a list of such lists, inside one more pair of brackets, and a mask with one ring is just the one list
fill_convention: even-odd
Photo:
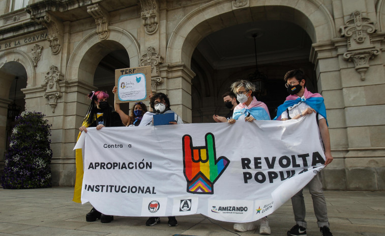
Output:
[[281,114],[284,111],[286,111],[288,107],[292,107],[301,101],[308,104],[318,114],[323,116],[326,120],[326,123],[328,123],[328,120],[326,119],[326,108],[323,102],[323,97],[319,93],[309,92],[306,88],[305,88],[304,95],[302,97],[299,97],[297,95],[287,96],[286,101],[281,106],[278,107],[277,116],[274,118],[274,120],[281,120]]

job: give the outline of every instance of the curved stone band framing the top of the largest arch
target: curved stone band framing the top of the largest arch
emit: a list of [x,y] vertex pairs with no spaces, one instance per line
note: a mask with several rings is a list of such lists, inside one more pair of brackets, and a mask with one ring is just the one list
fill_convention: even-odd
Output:
[[[168,41],[167,61],[182,62],[190,67],[192,53],[201,39],[231,25],[256,20],[275,19],[298,24],[313,43],[335,38],[333,18],[317,0],[286,1],[276,5],[269,4],[269,1],[250,0],[249,7],[241,8],[233,7],[232,2],[213,2],[188,14]],[[271,12],[274,14],[269,14]]]

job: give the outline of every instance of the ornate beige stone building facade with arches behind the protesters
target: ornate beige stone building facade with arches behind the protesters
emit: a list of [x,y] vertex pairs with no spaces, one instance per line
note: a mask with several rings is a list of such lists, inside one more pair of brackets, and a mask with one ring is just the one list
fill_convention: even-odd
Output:
[[384,36],[384,0],[1,0],[0,169],[9,111],[40,111],[53,185],[74,185],[86,95],[112,94],[115,69],[151,65],[152,90],[191,123],[226,114],[221,95],[255,71],[274,114],[283,75],[301,67],[327,107],[324,187],[384,191]]

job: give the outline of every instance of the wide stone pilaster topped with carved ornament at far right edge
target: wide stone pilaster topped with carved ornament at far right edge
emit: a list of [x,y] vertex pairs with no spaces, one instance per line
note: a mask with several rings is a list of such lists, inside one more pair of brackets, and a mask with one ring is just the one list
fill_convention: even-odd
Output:
[[[354,11],[341,27],[345,37],[341,83],[345,103],[348,190],[385,190],[385,71],[380,55],[383,36],[375,23]],[[342,56],[342,55],[341,55]],[[340,57],[341,57],[340,56]]]

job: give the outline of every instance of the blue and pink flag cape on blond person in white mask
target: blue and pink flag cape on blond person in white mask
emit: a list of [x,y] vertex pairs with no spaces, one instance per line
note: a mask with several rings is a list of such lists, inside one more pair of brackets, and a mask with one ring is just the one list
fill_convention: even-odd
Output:
[[245,116],[250,114],[256,120],[270,120],[268,107],[265,103],[258,101],[255,97],[253,97],[253,100],[248,107],[243,103],[239,103],[238,106],[234,108],[232,118],[238,120],[243,114],[245,114]]

